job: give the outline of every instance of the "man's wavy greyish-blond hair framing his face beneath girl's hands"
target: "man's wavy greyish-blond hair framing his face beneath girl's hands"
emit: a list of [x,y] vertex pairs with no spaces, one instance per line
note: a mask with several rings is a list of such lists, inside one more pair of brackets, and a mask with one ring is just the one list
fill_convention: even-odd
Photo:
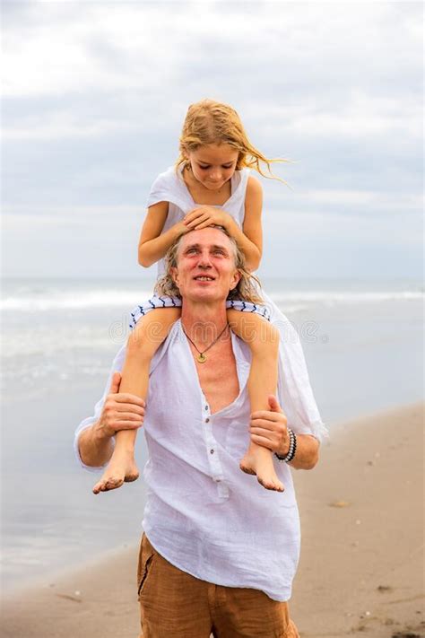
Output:
[[[233,290],[230,290],[228,299],[235,301],[239,299],[244,302],[251,303],[264,303],[264,300],[259,294],[259,290],[261,288],[260,281],[257,279],[256,275],[251,275],[251,273],[247,270],[245,256],[242,250],[239,249],[236,240],[222,226],[213,225],[212,228],[217,228],[229,237],[233,249],[235,268],[238,270],[240,275],[238,285],[233,288]],[[178,238],[174,241],[172,246],[169,247],[169,250],[165,255],[165,274],[160,277],[155,285],[155,293],[159,296],[163,294],[164,296],[178,297],[178,299],[181,299],[178,286],[171,275],[171,268],[178,267],[178,249],[180,248],[181,240],[186,234],[186,232],[182,232],[178,235]]]

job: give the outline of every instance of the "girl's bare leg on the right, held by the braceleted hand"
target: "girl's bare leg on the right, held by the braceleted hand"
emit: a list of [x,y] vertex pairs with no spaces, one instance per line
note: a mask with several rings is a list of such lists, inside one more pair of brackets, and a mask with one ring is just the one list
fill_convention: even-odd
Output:
[[[249,345],[252,353],[251,370],[247,380],[251,412],[269,410],[268,397],[276,393],[280,333],[269,321],[256,313],[227,311],[230,328]],[[250,441],[240,469],[255,474],[268,490],[283,492],[282,482],[273,466],[273,453]]]

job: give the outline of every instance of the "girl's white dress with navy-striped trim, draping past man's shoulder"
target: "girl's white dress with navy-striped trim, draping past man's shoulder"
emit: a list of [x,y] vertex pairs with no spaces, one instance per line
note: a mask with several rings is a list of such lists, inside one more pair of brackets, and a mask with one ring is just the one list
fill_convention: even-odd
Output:
[[[247,179],[250,169],[235,170],[231,178],[231,195],[223,205],[215,206],[222,208],[226,213],[231,214],[235,222],[242,229],[245,215],[245,195],[247,191]],[[183,217],[193,208],[199,206],[190,195],[186,183],[182,176],[182,166],[176,170],[175,166],[170,166],[168,170],[155,179],[151,192],[147,199],[147,207],[158,202],[169,202],[169,214],[164,224],[162,232],[169,230],[175,223],[180,222]],[[158,262],[158,277],[165,272],[164,260]],[[244,312],[256,312],[265,319],[270,320],[273,326],[279,328],[281,332],[281,345],[279,350],[279,380],[278,398],[283,412],[287,416],[288,425],[297,433],[313,434],[319,441],[327,435],[325,424],[320,417],[316,400],[308,379],[308,370],[304,353],[299,342],[299,335],[291,322],[270,297],[261,291],[261,296],[265,300],[264,305],[250,302],[227,302],[227,306]],[[181,306],[178,298],[157,296],[138,305],[133,312],[131,328],[134,328],[138,319],[154,308],[164,308],[169,306]]]

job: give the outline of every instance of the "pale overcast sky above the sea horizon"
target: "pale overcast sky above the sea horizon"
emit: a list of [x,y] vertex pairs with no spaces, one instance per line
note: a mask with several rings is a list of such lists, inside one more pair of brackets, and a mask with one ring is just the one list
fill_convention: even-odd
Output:
[[421,3],[4,2],[4,275],[143,276],[188,105],[238,110],[291,183],[262,275],[421,275]]

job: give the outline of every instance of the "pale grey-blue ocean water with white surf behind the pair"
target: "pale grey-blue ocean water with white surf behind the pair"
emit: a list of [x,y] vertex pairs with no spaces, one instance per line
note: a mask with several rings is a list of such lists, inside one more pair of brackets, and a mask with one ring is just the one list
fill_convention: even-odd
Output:
[[[415,281],[264,280],[298,329],[322,418],[343,420],[422,398],[423,287]],[[79,564],[140,533],[143,480],[94,496],[74,459],[129,311],[153,280],[2,284],[2,582]],[[146,456],[138,441],[139,467]]]

